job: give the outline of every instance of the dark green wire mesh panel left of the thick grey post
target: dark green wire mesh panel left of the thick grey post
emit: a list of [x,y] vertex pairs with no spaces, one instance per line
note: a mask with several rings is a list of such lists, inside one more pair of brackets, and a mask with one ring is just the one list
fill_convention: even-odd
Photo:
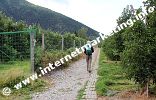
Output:
[[0,33],[0,62],[30,59],[28,33]]

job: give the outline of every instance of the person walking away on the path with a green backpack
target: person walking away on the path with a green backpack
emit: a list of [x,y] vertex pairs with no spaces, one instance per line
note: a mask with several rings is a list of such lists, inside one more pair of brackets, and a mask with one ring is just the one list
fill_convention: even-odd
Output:
[[92,53],[94,52],[94,48],[91,46],[91,42],[87,41],[87,45],[84,48],[84,53],[86,54],[86,62],[87,62],[87,71],[91,73],[92,71]]

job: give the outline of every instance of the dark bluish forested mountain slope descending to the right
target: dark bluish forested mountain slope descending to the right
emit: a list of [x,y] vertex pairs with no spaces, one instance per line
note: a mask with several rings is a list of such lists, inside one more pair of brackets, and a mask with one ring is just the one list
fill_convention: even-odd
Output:
[[40,24],[44,29],[56,32],[75,32],[81,27],[88,28],[89,36],[96,36],[97,31],[52,10],[33,5],[25,0],[0,0],[0,10],[15,20],[27,24]]

